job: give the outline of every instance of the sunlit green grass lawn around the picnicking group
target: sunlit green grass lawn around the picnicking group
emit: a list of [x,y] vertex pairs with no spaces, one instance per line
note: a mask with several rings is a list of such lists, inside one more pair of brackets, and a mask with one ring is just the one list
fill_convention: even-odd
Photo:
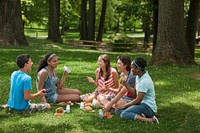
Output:
[[[95,50],[74,49],[67,45],[55,44],[47,40],[27,37],[29,48],[0,47],[0,104],[5,104],[9,95],[9,79],[17,70],[15,58],[22,53],[32,56],[33,70],[29,73],[33,81],[32,93],[36,92],[36,67],[39,60],[47,52],[55,52],[59,57],[57,75],[61,77],[63,66],[72,69],[68,75],[65,87],[75,88],[82,93],[92,92],[95,87],[89,83],[86,76],[95,78],[97,58],[102,52]],[[133,59],[142,56],[148,61],[150,53],[117,53],[107,52],[111,64],[116,67],[116,57],[128,54]],[[196,50],[196,61],[200,63],[200,50]],[[79,109],[78,105],[71,106],[71,112],[56,117],[53,114],[59,107],[52,104],[52,109],[43,113],[11,114],[6,110],[0,111],[0,132],[70,132],[70,133],[197,133],[200,132],[200,67],[197,66],[148,66],[156,91],[158,106],[157,117],[159,125],[144,122],[124,120],[114,115],[111,119],[98,117],[98,109],[87,113]],[[40,102],[34,99],[32,102]]]

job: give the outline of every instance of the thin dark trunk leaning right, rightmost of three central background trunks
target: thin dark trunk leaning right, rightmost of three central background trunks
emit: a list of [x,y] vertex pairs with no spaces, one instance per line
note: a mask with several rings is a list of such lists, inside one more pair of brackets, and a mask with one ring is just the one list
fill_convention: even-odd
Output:
[[99,30],[98,30],[98,35],[97,35],[97,41],[102,41],[102,35],[103,35],[103,30],[104,30],[104,21],[105,21],[105,16],[106,16],[106,5],[107,5],[107,0],[103,0],[102,3],[102,9],[101,9],[101,18],[100,18],[100,23],[99,23]]

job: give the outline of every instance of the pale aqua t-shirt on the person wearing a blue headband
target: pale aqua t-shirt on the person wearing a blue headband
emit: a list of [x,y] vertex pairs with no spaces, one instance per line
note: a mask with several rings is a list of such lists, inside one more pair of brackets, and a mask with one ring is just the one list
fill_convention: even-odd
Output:
[[141,103],[147,104],[154,112],[157,112],[155,90],[151,77],[146,72],[141,78],[136,76],[136,94],[138,92],[145,93]]

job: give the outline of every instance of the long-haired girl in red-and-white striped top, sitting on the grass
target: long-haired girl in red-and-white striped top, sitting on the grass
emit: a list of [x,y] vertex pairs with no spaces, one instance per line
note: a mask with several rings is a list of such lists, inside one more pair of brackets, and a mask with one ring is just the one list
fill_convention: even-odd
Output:
[[110,58],[107,54],[100,55],[98,58],[98,66],[96,70],[96,80],[87,76],[89,82],[97,86],[91,95],[86,95],[84,102],[92,102],[98,95],[115,96],[115,89],[118,88],[118,73],[115,68],[110,65]]

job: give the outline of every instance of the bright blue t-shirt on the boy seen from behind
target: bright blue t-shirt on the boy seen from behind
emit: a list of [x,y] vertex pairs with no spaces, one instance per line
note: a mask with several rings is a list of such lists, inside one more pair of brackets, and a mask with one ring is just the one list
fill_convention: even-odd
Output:
[[10,79],[9,108],[19,111],[28,109],[30,107],[30,100],[24,99],[24,91],[31,89],[31,77],[25,72],[14,71]]

